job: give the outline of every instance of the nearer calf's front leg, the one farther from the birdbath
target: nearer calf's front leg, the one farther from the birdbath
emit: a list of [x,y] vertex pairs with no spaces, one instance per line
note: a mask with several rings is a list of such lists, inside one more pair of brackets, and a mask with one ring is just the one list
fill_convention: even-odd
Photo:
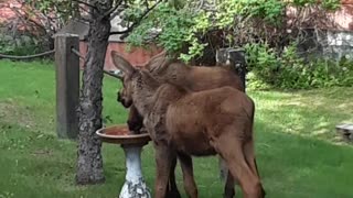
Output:
[[194,180],[192,158],[190,155],[178,153],[183,172],[184,189],[190,198],[197,198],[197,187]]

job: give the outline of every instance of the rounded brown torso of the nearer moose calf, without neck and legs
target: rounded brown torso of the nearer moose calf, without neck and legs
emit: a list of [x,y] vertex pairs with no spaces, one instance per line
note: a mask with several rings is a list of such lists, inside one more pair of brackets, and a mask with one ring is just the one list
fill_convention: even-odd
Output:
[[252,136],[253,113],[249,97],[232,87],[222,87],[191,92],[172,102],[167,110],[165,128],[180,152],[213,155],[215,150],[210,142],[226,129],[232,130],[233,136]]

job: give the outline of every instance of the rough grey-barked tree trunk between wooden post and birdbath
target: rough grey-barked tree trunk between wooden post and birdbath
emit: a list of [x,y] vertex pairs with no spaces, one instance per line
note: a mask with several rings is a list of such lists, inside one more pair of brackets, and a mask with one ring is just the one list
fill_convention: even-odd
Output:
[[[94,1],[96,2],[96,1]],[[88,53],[83,73],[79,98],[79,134],[77,151],[77,184],[104,183],[101,142],[96,131],[101,128],[103,67],[110,32],[109,15],[101,19],[111,8],[113,0],[96,2],[88,32]]]

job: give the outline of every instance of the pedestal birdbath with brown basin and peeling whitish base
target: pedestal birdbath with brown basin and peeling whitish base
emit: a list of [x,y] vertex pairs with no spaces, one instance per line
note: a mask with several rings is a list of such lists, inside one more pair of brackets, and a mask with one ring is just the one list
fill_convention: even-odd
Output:
[[120,144],[124,148],[127,172],[119,198],[151,198],[141,170],[141,151],[151,140],[150,135],[132,134],[127,125],[103,128],[96,134],[103,142]]

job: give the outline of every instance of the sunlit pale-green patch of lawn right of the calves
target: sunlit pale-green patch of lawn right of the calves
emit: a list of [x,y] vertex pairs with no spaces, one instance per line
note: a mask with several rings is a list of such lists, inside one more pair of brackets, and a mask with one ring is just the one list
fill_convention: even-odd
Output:
[[[335,132],[335,125],[342,122],[353,122],[353,91],[338,97],[343,88],[324,91],[304,91],[295,94],[254,92],[256,119],[276,127],[278,132],[319,138],[335,143],[342,143]],[[352,90],[352,88],[347,88]]]

